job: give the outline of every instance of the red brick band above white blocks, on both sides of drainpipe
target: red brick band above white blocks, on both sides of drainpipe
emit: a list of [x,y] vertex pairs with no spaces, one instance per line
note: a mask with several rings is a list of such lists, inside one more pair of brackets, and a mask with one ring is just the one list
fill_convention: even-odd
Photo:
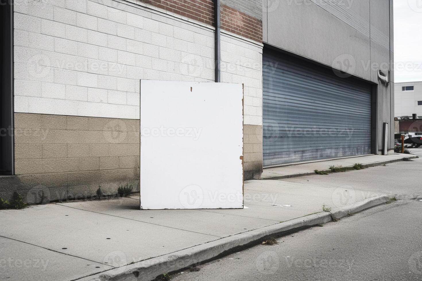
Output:
[[[214,25],[214,1],[210,0],[142,0],[157,8]],[[262,21],[227,5],[221,6],[221,28],[262,43]]]

